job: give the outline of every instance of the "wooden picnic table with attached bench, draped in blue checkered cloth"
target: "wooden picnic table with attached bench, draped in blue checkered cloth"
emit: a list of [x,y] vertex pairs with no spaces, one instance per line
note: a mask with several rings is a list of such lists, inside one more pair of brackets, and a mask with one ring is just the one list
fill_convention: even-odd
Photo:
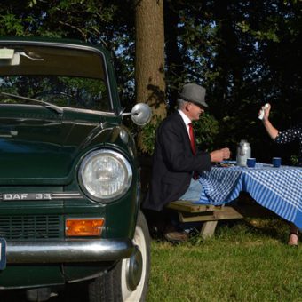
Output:
[[[239,167],[234,162],[203,171],[199,200],[175,201],[168,208],[178,211],[181,222],[203,222],[201,235],[211,236],[222,219],[242,219],[244,216],[263,217],[274,214],[302,228],[302,168],[256,163],[254,168]],[[228,205],[248,193],[258,207]]]

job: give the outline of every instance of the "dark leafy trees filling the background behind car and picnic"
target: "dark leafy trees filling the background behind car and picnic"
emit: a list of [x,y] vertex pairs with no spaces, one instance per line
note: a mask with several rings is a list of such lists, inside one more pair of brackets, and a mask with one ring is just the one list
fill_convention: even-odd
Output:
[[[302,2],[164,0],[164,10],[169,106],[183,83],[203,84],[219,123],[216,142],[232,148],[249,139],[255,157],[268,161],[275,148],[257,119],[259,107],[272,104],[272,122],[280,130],[301,120]],[[129,109],[135,99],[134,12],[131,0],[3,0],[0,35],[106,44],[115,53],[119,92]],[[155,128],[144,128],[147,152]],[[215,145],[212,134],[200,143]]]

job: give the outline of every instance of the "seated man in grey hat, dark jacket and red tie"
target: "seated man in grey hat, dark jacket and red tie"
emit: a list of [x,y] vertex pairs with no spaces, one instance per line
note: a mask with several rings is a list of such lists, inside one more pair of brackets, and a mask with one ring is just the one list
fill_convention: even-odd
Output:
[[221,162],[230,156],[228,148],[208,153],[195,147],[191,122],[198,120],[208,107],[204,97],[202,86],[185,84],[179,93],[178,110],[166,117],[156,132],[152,179],[143,209],[149,226],[155,224],[171,242],[185,241],[187,234],[171,227],[170,214],[164,206],[201,186],[195,171],[209,171],[212,162]]

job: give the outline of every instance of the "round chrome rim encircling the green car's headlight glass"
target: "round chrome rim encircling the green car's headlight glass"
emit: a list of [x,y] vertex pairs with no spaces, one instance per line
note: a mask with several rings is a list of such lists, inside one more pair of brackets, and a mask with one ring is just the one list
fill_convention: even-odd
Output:
[[[123,165],[123,168],[127,172],[127,178],[124,181],[123,189],[115,192],[114,195],[105,196],[105,197],[99,197],[96,195],[92,195],[91,192],[86,188],[86,186],[84,184],[83,171],[84,171],[85,167],[87,166],[88,163],[91,162],[91,160],[94,157],[99,156],[99,155],[102,155],[102,156],[109,155],[109,156],[114,157],[119,163],[121,163]],[[110,203],[110,202],[115,201],[118,198],[121,198],[129,190],[129,188],[131,187],[133,171],[131,168],[131,164],[129,163],[128,159],[123,154],[121,154],[120,152],[115,151],[113,149],[102,148],[102,149],[91,151],[90,153],[88,153],[87,155],[85,155],[83,157],[83,160],[80,163],[80,167],[78,169],[77,177],[78,177],[78,181],[79,181],[80,187],[81,187],[84,195],[88,196],[91,200],[99,202],[99,203]]]

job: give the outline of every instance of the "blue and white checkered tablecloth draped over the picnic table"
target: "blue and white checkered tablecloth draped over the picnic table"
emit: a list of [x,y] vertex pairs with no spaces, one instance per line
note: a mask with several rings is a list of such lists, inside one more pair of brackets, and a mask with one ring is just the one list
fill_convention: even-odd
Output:
[[302,228],[302,168],[257,163],[255,168],[213,167],[203,171],[203,186],[196,203],[220,205],[230,203],[241,191],[283,219]]

